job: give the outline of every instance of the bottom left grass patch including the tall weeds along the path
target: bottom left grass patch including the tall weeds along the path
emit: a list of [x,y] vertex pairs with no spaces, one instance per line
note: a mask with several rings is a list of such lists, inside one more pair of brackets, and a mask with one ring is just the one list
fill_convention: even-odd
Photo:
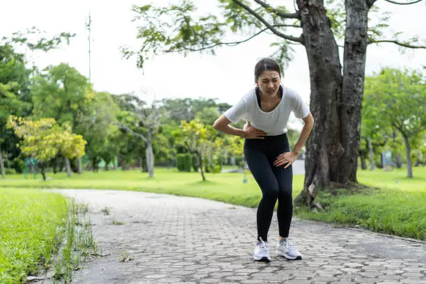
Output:
[[95,251],[91,226],[79,217],[84,213],[86,205],[61,194],[0,188],[0,283],[26,283],[27,276],[52,267],[56,280],[70,279],[78,262]]

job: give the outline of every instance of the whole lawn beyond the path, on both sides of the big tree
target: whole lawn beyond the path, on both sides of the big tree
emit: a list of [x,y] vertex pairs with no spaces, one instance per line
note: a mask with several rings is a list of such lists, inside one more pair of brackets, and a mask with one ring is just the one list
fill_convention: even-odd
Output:
[[[381,190],[338,197],[322,194],[318,200],[326,205],[325,212],[296,210],[295,214],[304,219],[359,225],[377,232],[426,239],[426,167],[413,168],[413,179],[405,175],[405,168],[389,172],[359,170],[359,182]],[[153,179],[140,171],[85,172],[72,178],[67,178],[65,173],[48,173],[47,177],[52,179],[43,182],[40,176],[33,180],[30,175],[24,180],[22,175],[10,175],[0,181],[0,186],[149,191],[210,198],[248,207],[257,206],[260,200],[260,189],[249,173],[246,184],[239,173],[207,173],[207,182],[201,182],[199,173],[178,173],[174,168],[157,168]],[[294,175],[294,198],[303,187],[303,178],[303,175]]]

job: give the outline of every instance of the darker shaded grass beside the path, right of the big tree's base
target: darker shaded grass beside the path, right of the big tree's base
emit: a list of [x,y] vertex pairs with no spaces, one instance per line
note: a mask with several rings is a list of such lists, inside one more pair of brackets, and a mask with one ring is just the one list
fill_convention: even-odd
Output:
[[426,239],[426,194],[400,189],[366,190],[360,194],[320,194],[317,201],[324,212],[298,210],[303,219],[362,226],[374,232]]

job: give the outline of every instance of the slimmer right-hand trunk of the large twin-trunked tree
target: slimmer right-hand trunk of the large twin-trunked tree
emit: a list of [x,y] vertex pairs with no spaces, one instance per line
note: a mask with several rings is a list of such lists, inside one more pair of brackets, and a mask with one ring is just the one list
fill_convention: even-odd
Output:
[[[369,4],[368,4],[369,2]],[[346,31],[343,84],[340,101],[340,138],[344,149],[339,182],[357,182],[356,152],[361,139],[365,58],[368,45],[368,11],[372,0],[345,0]]]

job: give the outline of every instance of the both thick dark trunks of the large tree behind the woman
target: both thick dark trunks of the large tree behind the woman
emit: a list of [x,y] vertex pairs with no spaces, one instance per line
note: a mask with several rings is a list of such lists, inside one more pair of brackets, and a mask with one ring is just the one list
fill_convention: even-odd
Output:
[[[370,1],[373,2],[373,1]],[[306,143],[306,175],[297,204],[314,205],[329,184],[356,180],[367,47],[366,0],[346,0],[344,74],[324,1],[297,0],[310,71],[310,111],[315,125]]]

